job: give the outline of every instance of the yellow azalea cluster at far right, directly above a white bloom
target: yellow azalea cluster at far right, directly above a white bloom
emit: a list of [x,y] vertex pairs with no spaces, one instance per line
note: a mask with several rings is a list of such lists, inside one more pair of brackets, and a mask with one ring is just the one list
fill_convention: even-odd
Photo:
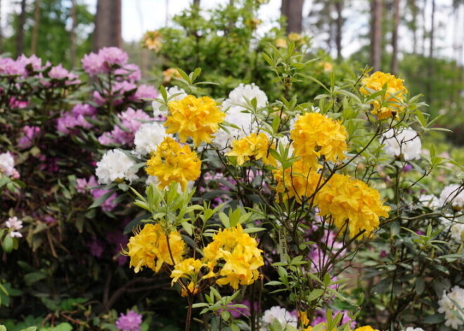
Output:
[[398,117],[399,112],[404,110],[402,105],[404,96],[408,90],[403,85],[404,80],[394,77],[393,74],[385,74],[383,72],[374,72],[369,77],[361,80],[361,93],[369,96],[372,93],[387,89],[385,95],[378,96],[373,103],[373,115],[377,115],[378,119],[385,119],[388,117]]

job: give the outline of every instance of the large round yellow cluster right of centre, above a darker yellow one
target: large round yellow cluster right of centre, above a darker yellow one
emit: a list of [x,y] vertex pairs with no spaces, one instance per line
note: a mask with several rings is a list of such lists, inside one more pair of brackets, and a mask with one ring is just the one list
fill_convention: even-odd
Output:
[[347,136],[347,130],[342,124],[318,112],[299,115],[295,128],[290,131],[295,155],[301,157],[313,170],[321,167],[317,162],[321,156],[326,157],[327,161],[344,160]]

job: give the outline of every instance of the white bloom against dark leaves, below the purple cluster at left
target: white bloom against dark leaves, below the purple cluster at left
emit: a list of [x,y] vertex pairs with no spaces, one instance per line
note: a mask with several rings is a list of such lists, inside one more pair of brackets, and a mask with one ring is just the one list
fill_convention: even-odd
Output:
[[116,179],[127,179],[129,182],[138,179],[136,170],[131,169],[136,163],[120,150],[108,150],[97,163],[95,171],[98,183],[109,184]]

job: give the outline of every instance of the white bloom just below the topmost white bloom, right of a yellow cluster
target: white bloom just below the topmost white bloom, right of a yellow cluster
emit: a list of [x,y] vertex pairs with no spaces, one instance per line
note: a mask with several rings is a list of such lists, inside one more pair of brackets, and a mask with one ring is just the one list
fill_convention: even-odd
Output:
[[257,123],[254,121],[253,115],[250,112],[243,112],[243,108],[240,107],[229,108],[224,120],[240,128],[236,129],[232,126],[227,126],[228,132],[220,129],[214,134],[212,145],[224,152],[228,151],[228,147],[231,146],[233,140],[248,136],[252,131],[255,131],[254,129],[257,129]]

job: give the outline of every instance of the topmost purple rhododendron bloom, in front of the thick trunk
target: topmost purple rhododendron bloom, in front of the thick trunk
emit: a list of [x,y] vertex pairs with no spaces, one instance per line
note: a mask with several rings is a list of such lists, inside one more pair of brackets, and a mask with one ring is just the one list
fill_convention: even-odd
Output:
[[[86,54],[82,59],[82,68],[90,76],[107,74],[112,68],[124,67],[128,58],[127,53],[120,48],[104,47],[98,53]],[[134,70],[134,67],[127,69]]]

